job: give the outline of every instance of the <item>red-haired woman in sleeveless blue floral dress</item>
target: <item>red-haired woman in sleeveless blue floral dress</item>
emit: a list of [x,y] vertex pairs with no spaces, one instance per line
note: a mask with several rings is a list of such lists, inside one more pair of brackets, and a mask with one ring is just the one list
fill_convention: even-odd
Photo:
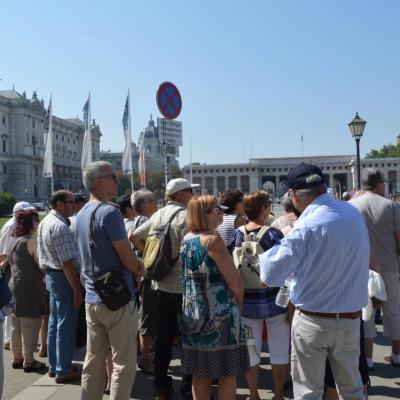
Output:
[[182,243],[182,373],[193,374],[193,398],[209,400],[218,378],[218,398],[235,399],[236,375],[249,368],[240,322],[243,284],[215,229],[222,208],[215,196],[194,196],[187,207],[190,231]]

